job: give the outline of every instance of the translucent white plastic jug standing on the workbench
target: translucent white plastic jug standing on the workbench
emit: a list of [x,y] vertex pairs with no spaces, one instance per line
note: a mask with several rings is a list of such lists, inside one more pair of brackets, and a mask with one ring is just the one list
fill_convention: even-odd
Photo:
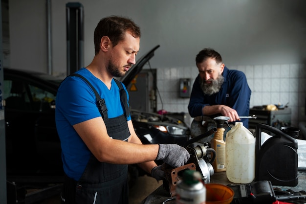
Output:
[[255,179],[255,137],[242,122],[236,122],[226,133],[225,165],[231,182],[250,183]]

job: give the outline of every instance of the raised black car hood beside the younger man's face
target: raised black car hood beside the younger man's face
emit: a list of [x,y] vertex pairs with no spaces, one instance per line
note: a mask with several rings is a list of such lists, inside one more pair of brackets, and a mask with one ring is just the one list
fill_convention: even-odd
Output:
[[149,52],[141,56],[137,61],[136,64],[133,65],[130,70],[121,78],[120,80],[126,87],[131,83],[133,78],[142,70],[143,66],[154,56],[154,51],[159,47],[160,45],[156,45],[151,49]]

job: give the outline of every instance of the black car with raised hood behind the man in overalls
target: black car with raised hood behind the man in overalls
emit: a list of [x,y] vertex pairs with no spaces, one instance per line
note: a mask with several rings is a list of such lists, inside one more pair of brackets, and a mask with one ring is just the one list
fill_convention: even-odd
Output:
[[[120,79],[125,86],[158,47],[137,60]],[[62,182],[64,172],[55,126],[55,100],[63,78],[12,68],[3,69],[3,78],[7,180],[14,183]],[[144,144],[183,145],[189,139],[189,127],[179,118],[131,110],[131,119]]]

